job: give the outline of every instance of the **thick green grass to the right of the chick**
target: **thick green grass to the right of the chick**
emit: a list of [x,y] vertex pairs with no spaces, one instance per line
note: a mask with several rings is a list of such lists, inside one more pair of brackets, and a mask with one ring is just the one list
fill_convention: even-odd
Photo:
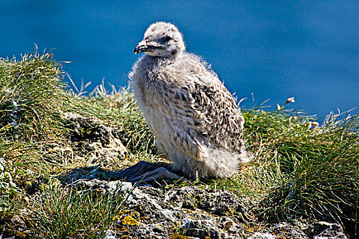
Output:
[[[300,111],[247,109],[251,163],[217,186],[254,201],[263,221],[308,218],[358,227],[359,115],[329,115],[317,128]],[[211,182],[210,182],[211,183]]]

